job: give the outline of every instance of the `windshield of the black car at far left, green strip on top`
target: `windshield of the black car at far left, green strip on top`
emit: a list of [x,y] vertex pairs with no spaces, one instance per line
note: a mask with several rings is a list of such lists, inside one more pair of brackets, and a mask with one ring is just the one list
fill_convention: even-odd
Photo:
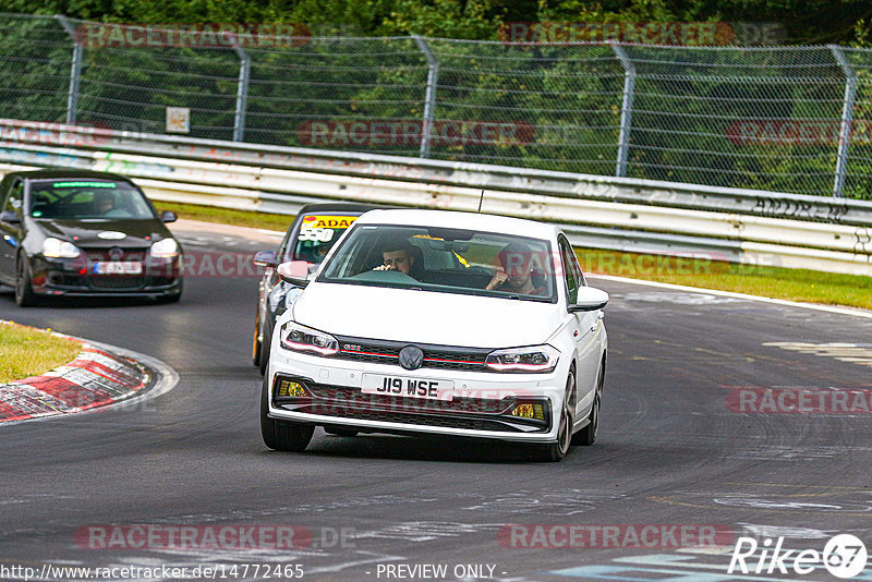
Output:
[[31,185],[31,216],[60,219],[154,219],[145,196],[125,182],[43,180]]

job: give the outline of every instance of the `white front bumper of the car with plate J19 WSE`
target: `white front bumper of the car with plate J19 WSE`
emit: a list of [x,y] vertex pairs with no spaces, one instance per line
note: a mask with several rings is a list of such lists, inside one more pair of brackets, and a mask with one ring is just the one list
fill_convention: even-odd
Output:
[[[277,342],[277,339],[274,339]],[[353,362],[290,352],[272,345],[269,369],[271,419],[364,433],[434,434],[523,442],[557,438],[566,378],[560,366],[549,374],[496,374]],[[363,374],[453,381],[450,400],[368,395]],[[560,379],[562,378],[562,379]],[[281,396],[282,383],[300,385]],[[287,385],[286,385],[287,386]],[[512,415],[520,404],[540,405],[535,417]],[[528,409],[530,410],[530,409]],[[541,413],[540,413],[541,411]]]

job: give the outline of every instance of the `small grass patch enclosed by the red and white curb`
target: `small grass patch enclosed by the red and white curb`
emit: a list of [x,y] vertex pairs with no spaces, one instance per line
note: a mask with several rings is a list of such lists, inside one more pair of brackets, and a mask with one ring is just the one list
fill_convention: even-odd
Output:
[[58,338],[48,330],[0,324],[0,384],[62,366],[81,351],[80,342]]

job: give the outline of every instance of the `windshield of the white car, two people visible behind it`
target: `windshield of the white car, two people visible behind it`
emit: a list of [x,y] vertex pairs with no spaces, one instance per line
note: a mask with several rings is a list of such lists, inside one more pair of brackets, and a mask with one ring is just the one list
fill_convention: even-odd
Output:
[[437,227],[358,225],[318,281],[555,303],[550,244]]

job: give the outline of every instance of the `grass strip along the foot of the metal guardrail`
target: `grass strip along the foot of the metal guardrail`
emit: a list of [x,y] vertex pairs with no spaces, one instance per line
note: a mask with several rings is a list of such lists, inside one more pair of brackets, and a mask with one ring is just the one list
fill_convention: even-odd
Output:
[[[193,204],[156,202],[155,205],[161,210],[173,210],[181,218],[282,232],[293,220],[292,216],[228,210]],[[594,248],[579,248],[577,253],[585,272],[872,310],[872,277]]]

